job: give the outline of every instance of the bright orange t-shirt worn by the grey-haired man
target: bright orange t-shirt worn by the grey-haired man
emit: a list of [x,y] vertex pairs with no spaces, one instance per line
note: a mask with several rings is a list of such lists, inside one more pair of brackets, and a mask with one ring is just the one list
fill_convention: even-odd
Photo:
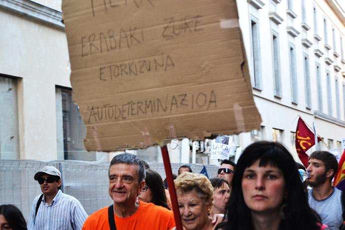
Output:
[[[172,211],[152,203],[139,203],[137,212],[130,217],[120,218],[114,214],[117,230],[171,230],[175,227]],[[82,230],[110,230],[108,207],[91,214]]]

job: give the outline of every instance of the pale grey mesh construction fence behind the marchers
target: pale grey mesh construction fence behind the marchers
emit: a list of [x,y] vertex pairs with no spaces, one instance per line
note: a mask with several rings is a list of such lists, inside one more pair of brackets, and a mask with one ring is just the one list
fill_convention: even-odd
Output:
[[[163,180],[166,178],[163,163],[149,165],[160,173]],[[177,175],[181,165],[173,163],[172,173]],[[199,173],[203,166],[187,165],[194,173]],[[88,215],[112,204],[108,193],[109,162],[0,160],[0,205],[15,205],[27,221],[32,201],[42,193],[33,176],[44,166],[54,166],[60,170],[61,190],[78,199]],[[205,167],[209,178],[217,175],[217,166]]]

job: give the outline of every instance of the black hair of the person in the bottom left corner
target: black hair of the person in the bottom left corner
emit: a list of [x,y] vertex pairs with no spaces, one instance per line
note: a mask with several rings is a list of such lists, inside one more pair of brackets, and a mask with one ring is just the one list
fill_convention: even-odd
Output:
[[13,230],[27,230],[22,213],[14,205],[0,205],[0,215],[3,215]]

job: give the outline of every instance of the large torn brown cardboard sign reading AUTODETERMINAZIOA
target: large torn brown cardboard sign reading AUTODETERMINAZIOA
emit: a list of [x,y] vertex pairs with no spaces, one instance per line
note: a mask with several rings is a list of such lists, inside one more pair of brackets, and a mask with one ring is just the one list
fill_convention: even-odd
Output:
[[89,151],[258,129],[235,0],[63,0]]

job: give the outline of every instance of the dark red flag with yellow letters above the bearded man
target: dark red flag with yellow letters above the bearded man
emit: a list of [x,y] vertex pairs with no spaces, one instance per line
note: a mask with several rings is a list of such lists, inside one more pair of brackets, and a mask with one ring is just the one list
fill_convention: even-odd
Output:
[[[318,142],[321,141],[321,138],[318,137]],[[300,158],[304,167],[308,167],[308,155],[306,154],[307,150],[315,145],[315,135],[308,128],[306,123],[302,118],[298,119],[297,129],[296,129],[296,151],[298,157]]]

